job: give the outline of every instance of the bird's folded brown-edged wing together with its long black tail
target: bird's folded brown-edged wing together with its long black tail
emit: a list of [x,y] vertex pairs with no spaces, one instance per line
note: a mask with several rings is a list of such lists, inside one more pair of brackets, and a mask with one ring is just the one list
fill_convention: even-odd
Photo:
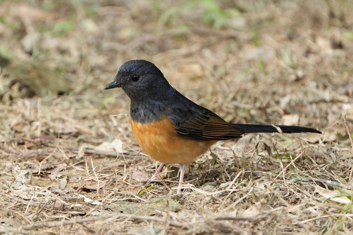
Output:
[[[168,100],[168,117],[180,136],[195,140],[230,140],[245,133],[278,132],[273,125],[227,123],[216,113],[193,103],[175,90],[175,99]],[[180,94],[180,95],[178,95]],[[283,133],[321,131],[302,126],[277,126]]]

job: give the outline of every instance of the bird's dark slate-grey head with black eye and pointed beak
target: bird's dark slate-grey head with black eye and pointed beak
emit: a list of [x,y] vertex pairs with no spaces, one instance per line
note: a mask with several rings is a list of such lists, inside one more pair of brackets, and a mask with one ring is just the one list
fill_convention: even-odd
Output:
[[145,60],[130,60],[122,64],[114,81],[104,89],[115,87],[121,87],[131,100],[160,99],[172,88],[161,70]]

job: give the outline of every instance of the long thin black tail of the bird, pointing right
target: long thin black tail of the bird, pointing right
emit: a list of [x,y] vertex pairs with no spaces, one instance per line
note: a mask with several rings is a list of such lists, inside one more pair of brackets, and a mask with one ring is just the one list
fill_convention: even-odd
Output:
[[322,134],[321,131],[314,128],[303,127],[303,126],[273,126],[273,125],[259,125],[259,124],[238,124],[230,123],[232,126],[244,131],[245,133],[254,133],[254,132],[280,132],[277,128],[281,129],[283,133],[299,133],[299,132],[313,132]]

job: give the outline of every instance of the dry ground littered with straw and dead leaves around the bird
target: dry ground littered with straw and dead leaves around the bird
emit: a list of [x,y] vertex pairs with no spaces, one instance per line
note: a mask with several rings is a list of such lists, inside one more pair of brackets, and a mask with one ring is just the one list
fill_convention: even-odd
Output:
[[[0,233],[353,234],[353,1],[0,0]],[[132,59],[247,134],[186,170],[103,90]],[[342,116],[346,113],[347,124]],[[178,156],[175,156],[178,157]]]

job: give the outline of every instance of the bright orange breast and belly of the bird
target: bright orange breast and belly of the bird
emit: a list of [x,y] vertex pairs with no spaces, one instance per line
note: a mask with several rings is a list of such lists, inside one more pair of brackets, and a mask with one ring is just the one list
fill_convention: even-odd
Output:
[[188,165],[217,142],[179,136],[168,118],[146,124],[131,119],[131,127],[142,150],[154,160],[168,164]]

